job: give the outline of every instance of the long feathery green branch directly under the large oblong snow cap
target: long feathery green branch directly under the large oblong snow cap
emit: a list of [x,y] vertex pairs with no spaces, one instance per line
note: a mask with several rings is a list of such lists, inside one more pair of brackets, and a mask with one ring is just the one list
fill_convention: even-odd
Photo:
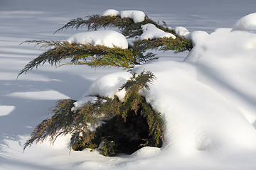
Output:
[[[50,65],[57,66],[61,60],[70,58],[68,64],[87,64],[90,67],[124,67],[129,69],[136,64],[132,51],[119,47],[105,47],[102,45],[78,44],[67,41],[46,41],[32,40],[23,43],[36,43],[41,47],[52,47],[43,52],[18,73],[18,76],[28,72],[34,67],[38,68],[48,62]],[[82,61],[80,61],[82,60]]]

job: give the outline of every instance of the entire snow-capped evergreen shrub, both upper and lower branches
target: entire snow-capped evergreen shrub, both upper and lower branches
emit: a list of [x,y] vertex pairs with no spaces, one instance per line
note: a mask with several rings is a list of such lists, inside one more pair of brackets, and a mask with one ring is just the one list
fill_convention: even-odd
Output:
[[[178,36],[166,23],[162,26],[152,21],[142,11],[108,10],[103,15],[73,19],[56,32],[82,26],[87,26],[89,31],[67,40],[25,41],[50,48],[26,64],[18,75],[46,62],[58,66],[65,59],[69,59],[67,64],[130,69],[136,64],[157,59],[147,50],[181,52],[192,48],[188,39]],[[117,28],[119,32],[99,30],[102,28]],[[127,41],[129,38],[131,43]],[[139,91],[149,89],[148,84],[154,79],[151,72],[133,74],[120,87],[120,91],[125,91],[122,99],[95,94],[92,95],[97,98],[95,101],[82,101],[82,105],[71,99],[58,101],[52,109],[53,116],[36,127],[24,149],[34,141],[49,138],[53,143],[56,137],[68,134],[72,135],[70,149],[99,149],[105,156],[120,152],[132,154],[144,146],[161,147],[164,122],[160,113],[156,113],[139,95]]]

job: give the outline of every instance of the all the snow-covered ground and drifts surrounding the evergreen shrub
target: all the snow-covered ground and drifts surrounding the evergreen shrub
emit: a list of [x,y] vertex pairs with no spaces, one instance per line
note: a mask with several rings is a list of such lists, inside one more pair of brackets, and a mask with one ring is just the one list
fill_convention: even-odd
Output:
[[[0,169],[256,169],[256,35],[238,31],[242,21],[235,26],[256,12],[255,5],[253,0],[0,1]],[[132,156],[103,157],[86,150],[69,154],[69,137],[61,137],[54,146],[45,142],[23,153],[23,143],[50,116],[55,101],[78,99],[92,81],[122,69],[46,64],[16,79],[43,51],[19,43],[66,40],[85,30],[54,31],[72,18],[108,8],[144,11],[191,32],[195,47],[189,54],[159,52],[159,61],[134,69],[157,77],[143,95],[163,113],[166,144]]]

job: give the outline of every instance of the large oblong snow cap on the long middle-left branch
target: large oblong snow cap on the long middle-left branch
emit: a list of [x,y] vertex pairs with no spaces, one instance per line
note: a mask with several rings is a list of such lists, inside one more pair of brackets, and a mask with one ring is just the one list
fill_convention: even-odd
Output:
[[70,43],[81,43],[92,45],[105,45],[107,47],[128,48],[127,39],[121,33],[114,30],[95,30],[85,33],[77,33],[68,38]]

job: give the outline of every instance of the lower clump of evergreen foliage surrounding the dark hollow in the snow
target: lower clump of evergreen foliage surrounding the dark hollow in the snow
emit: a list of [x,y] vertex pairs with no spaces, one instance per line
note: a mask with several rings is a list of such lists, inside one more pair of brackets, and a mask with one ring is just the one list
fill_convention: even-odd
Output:
[[[98,96],[95,103],[88,102],[71,111],[75,101],[58,101],[52,109],[54,115],[36,127],[23,148],[48,137],[54,143],[56,137],[67,134],[72,136],[70,149],[96,149],[102,143],[100,151],[105,156],[121,152],[132,154],[144,146],[161,147],[164,140],[161,115],[139,96],[139,91],[149,89],[154,79],[151,72],[133,74],[120,88],[127,92],[123,102],[117,96]],[[100,122],[104,123],[100,125]]]

